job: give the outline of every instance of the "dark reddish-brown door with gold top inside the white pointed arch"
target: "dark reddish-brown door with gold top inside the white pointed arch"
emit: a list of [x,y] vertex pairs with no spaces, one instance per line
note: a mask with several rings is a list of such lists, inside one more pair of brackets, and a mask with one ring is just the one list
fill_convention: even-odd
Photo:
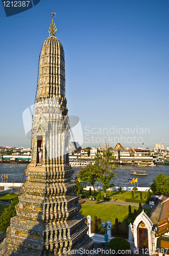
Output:
[[145,223],[142,221],[138,226],[138,249],[142,250],[146,248],[149,248],[148,230]]

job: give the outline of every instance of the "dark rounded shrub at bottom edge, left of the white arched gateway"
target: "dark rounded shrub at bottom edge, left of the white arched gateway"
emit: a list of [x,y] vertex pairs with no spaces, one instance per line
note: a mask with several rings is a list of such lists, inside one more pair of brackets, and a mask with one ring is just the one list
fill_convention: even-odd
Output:
[[130,243],[124,238],[113,238],[108,243],[108,247],[118,253],[118,250],[130,250]]

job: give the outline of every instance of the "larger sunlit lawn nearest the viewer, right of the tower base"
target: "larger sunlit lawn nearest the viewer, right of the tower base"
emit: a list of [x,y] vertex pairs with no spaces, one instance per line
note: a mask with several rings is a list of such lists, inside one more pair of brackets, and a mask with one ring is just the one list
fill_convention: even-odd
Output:
[[[131,206],[131,211],[138,209],[136,206]],[[108,204],[108,203],[99,203],[96,202],[85,202],[82,204],[80,214],[87,217],[90,215],[92,220],[94,217],[100,218],[102,221],[110,220],[111,223],[115,223],[115,219],[118,218],[119,221],[123,220],[128,215],[128,205],[117,205],[117,204]]]

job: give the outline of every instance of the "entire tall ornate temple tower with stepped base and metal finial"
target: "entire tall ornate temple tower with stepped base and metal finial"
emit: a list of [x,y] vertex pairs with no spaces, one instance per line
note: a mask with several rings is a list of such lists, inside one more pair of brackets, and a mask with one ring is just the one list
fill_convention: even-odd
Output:
[[32,158],[25,170],[28,178],[16,206],[17,216],[11,219],[3,242],[5,256],[66,255],[68,250],[93,248],[73,193],[76,185],[71,182],[65,59],[55,32],[52,19],[40,54]]

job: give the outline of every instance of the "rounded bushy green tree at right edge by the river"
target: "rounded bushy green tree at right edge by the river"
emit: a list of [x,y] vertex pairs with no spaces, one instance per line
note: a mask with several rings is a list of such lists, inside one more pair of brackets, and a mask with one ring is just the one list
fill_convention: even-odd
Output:
[[169,195],[169,177],[165,174],[158,174],[153,183],[151,184],[151,190],[154,194],[165,194]]

